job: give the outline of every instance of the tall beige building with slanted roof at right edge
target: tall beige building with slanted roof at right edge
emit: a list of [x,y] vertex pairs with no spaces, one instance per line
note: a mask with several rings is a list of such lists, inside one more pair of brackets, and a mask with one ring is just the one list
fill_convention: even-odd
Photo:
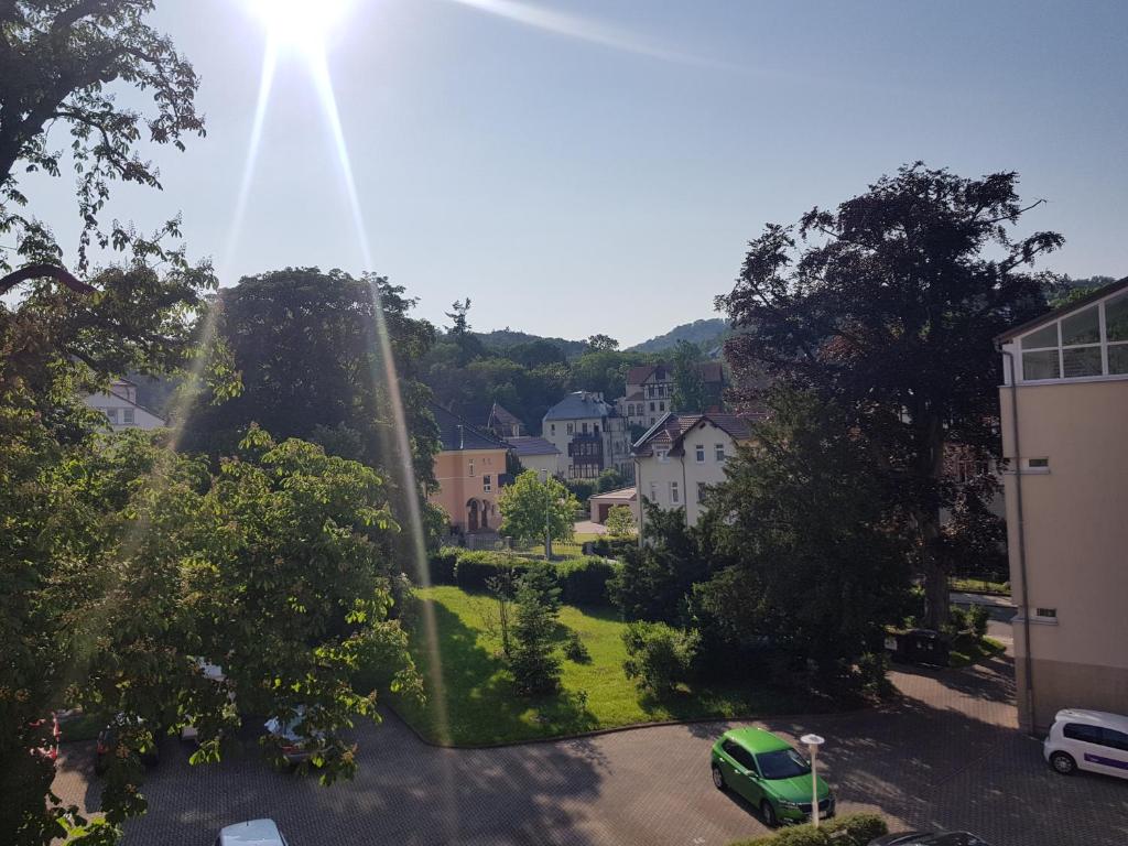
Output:
[[1019,721],[1128,713],[1128,279],[1005,333]]

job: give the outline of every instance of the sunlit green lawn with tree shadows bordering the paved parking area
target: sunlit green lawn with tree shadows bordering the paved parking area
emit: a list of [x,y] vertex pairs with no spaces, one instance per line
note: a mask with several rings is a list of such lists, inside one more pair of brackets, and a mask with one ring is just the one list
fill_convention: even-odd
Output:
[[[686,689],[668,700],[640,693],[623,672],[624,624],[610,609],[565,606],[561,623],[576,632],[590,653],[587,663],[565,659],[562,694],[528,699],[519,696],[501,659],[500,638],[485,631],[486,594],[453,587],[420,591],[434,611],[442,663],[442,690],[431,689],[428,704],[396,702],[396,712],[429,740],[453,746],[485,746],[574,734],[661,720],[755,716],[826,710],[826,704],[768,687]],[[422,619],[423,615],[421,615]],[[412,651],[430,679],[430,658],[420,623]],[[446,725],[440,716],[446,710]]]

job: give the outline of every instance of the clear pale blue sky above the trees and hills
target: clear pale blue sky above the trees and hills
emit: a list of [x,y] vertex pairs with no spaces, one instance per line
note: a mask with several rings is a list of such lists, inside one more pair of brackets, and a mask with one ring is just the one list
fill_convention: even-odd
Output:
[[[298,50],[238,220],[266,50],[252,1],[157,0],[208,135],[147,150],[164,191],[109,205],[147,230],[182,212],[224,285],[370,270],[440,326],[469,297],[476,329],[627,345],[715,316],[766,222],[917,159],[1017,171],[1047,201],[1017,231],[1066,238],[1041,266],[1128,274],[1123,0],[351,0],[326,55],[363,237]],[[72,182],[24,186],[77,245]]]

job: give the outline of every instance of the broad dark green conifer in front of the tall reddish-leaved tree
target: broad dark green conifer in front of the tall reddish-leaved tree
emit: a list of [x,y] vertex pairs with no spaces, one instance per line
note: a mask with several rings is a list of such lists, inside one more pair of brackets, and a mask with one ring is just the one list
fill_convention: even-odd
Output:
[[908,592],[906,544],[885,479],[851,415],[777,390],[755,448],[729,461],[706,531],[722,566],[694,587],[703,634],[731,649],[768,643],[812,662],[829,687],[858,680]]

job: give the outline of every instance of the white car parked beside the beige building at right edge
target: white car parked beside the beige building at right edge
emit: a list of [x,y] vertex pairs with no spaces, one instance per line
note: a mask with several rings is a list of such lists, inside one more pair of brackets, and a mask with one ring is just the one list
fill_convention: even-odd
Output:
[[1077,769],[1128,778],[1128,716],[1103,711],[1059,711],[1042,744],[1054,772]]

